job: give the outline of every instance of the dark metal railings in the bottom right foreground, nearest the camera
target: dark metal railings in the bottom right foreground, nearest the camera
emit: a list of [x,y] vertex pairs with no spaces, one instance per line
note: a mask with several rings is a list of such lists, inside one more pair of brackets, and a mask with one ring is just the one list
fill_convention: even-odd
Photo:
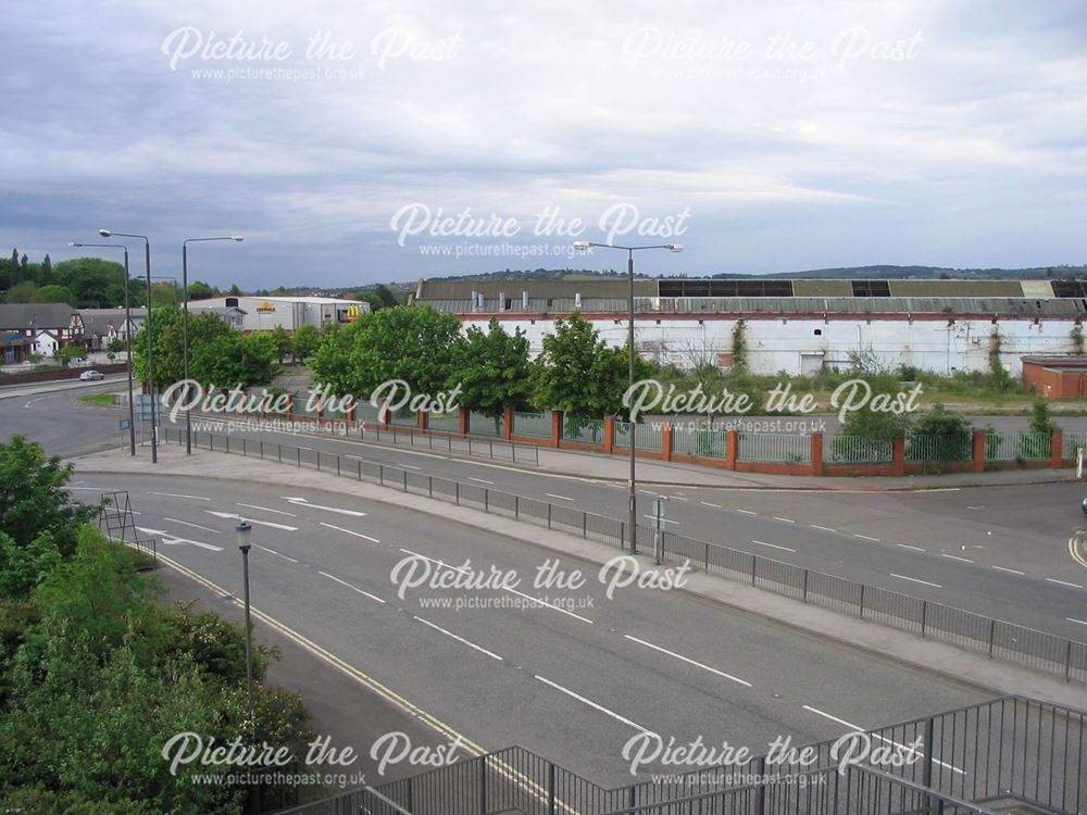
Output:
[[787,761],[762,755],[612,789],[513,747],[282,815],[965,815],[1015,805],[1078,815],[1085,730],[1085,711],[1003,697],[847,736],[890,749],[905,758],[899,766],[857,754],[842,763],[841,739],[827,739]]

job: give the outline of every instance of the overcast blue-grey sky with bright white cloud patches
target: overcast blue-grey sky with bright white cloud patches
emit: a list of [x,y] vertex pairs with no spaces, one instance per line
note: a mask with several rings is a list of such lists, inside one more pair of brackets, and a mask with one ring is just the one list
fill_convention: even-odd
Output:
[[249,288],[623,265],[578,238],[690,275],[1087,262],[1078,0],[4,9],[0,250],[35,261],[107,227],[158,274],[242,234],[190,275]]

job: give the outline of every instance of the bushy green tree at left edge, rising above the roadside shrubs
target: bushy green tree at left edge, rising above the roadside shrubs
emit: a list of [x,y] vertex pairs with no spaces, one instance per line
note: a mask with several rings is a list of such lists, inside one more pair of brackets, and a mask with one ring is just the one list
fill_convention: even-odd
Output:
[[72,473],[72,464],[62,465],[57,455],[47,457],[40,444],[22,436],[0,444],[0,531],[18,547],[49,532],[61,554],[71,554],[75,527],[97,512],[65,491]]

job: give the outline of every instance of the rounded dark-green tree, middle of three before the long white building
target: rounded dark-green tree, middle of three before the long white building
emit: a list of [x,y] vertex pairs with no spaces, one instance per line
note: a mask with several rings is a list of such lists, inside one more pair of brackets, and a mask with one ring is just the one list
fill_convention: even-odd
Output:
[[520,328],[511,336],[490,318],[487,333],[468,328],[453,348],[453,372],[448,388],[461,387],[460,402],[487,416],[504,408],[522,410],[532,396],[528,339]]

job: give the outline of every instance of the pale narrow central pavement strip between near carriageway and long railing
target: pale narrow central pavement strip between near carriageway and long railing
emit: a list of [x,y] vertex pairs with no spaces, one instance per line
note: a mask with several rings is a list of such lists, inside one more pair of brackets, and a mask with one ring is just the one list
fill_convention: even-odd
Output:
[[[216,479],[227,479],[279,484],[292,488],[307,487],[409,507],[442,518],[447,523],[452,522],[499,534],[589,563],[603,564],[616,554],[613,547],[603,543],[527,526],[464,506],[451,506],[422,496],[402,493],[349,479],[337,479],[313,471],[296,469],[271,462],[203,450],[186,457],[184,451],[179,449],[163,448],[160,456],[159,464],[151,465],[146,459],[133,461],[125,453],[109,452],[79,459],[76,466],[80,477],[93,473],[120,473],[126,476],[168,473],[202,477],[208,479],[209,484],[214,484]],[[214,477],[209,478],[209,474],[212,473]],[[684,591],[762,619],[785,624],[795,631],[817,639],[877,653],[903,667],[923,668],[949,679],[988,689],[994,693],[1023,693],[1087,707],[1087,688],[1082,685],[1065,684],[1027,668],[989,660],[944,643],[923,640],[830,610],[805,605],[739,582],[704,574],[692,574]]]

